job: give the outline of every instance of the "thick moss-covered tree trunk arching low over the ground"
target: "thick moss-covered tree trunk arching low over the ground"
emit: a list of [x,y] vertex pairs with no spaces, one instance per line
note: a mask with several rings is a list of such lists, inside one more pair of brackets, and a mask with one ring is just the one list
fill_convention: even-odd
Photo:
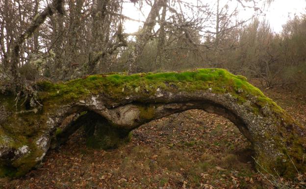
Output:
[[194,108],[232,121],[267,170],[290,177],[294,162],[306,171],[306,128],[244,77],[223,69],[95,75],[37,86],[43,104],[37,113],[27,102],[16,111],[12,96],[0,96],[1,176],[24,175],[81,126],[89,145],[113,148],[144,123]]

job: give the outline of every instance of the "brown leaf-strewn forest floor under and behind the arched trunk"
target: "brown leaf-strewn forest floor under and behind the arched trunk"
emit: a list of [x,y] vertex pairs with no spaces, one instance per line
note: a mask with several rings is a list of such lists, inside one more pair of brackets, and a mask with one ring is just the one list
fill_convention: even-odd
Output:
[[[305,97],[280,88],[264,93],[306,125]],[[0,185],[4,189],[273,189],[255,171],[252,156],[250,143],[228,119],[188,110],[141,126],[128,145],[114,150],[87,148],[78,131],[50,151],[40,168],[21,179],[1,179]],[[303,184],[303,177],[297,182]],[[290,185],[282,178],[278,182]]]

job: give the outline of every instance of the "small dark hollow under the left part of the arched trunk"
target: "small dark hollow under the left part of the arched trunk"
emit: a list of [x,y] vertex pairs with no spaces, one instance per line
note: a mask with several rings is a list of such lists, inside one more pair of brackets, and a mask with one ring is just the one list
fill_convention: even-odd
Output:
[[130,140],[130,130],[112,126],[102,115],[92,110],[81,111],[68,116],[55,131],[51,147],[67,142],[69,137],[82,128],[86,145],[95,149],[117,148]]

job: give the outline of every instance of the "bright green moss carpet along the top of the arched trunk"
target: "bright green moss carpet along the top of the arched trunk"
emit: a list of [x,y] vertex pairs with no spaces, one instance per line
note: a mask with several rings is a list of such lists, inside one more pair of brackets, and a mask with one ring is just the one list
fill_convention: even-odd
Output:
[[[176,88],[169,87],[176,86]],[[238,100],[247,94],[266,98],[259,89],[252,86],[243,76],[235,76],[224,69],[198,69],[186,72],[165,72],[134,75],[94,75],[64,83],[47,81],[38,83],[42,100],[60,103],[84,99],[86,96],[106,93],[113,100],[121,100],[135,92],[144,98],[156,93],[157,88],[171,88],[178,91],[197,91],[211,88],[215,93],[237,94],[244,91]],[[135,88],[137,90],[135,91]]]

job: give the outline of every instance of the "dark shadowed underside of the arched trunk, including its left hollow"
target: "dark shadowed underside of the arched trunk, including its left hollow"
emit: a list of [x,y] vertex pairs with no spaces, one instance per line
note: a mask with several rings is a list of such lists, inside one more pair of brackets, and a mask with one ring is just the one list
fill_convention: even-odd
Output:
[[[87,145],[93,148],[110,149],[117,148],[126,144],[131,137],[131,131],[140,127],[143,124],[149,123],[152,120],[159,119],[171,114],[180,113],[190,109],[201,109],[207,113],[213,113],[229,119],[252,144],[252,137],[249,129],[243,119],[234,114],[229,109],[222,105],[212,102],[203,101],[188,101],[187,103],[131,103],[126,105],[129,108],[137,107],[145,111],[143,117],[134,119],[136,123],[132,128],[126,129],[120,125],[112,124],[111,120],[106,119],[103,114],[97,110],[91,110],[83,106],[72,108],[70,116],[63,122],[68,124],[63,125],[55,130],[54,137],[51,141],[51,148],[66,142],[68,137],[75,133],[80,127],[84,127],[84,135],[87,138]],[[151,110],[150,110],[151,109]],[[153,113],[152,109],[158,109],[158,112]],[[121,116],[120,111],[116,112],[116,116]],[[124,113],[124,112],[123,112]],[[151,113],[151,115],[149,115]],[[150,117],[152,116],[152,117]]]

